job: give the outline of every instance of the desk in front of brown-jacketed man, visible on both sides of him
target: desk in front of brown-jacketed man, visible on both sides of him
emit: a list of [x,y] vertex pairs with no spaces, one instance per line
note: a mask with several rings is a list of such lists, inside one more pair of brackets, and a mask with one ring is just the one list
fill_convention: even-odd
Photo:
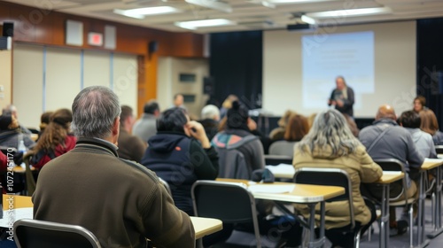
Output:
[[[3,206],[4,210],[9,209],[9,201],[12,202],[14,209],[23,208],[26,213],[21,215],[22,218],[32,219],[32,208],[33,203],[31,201],[31,197],[26,196],[16,196],[16,195],[4,195],[3,196]],[[4,211],[4,215],[6,212]],[[15,220],[18,221],[18,220]],[[193,217],[190,216],[190,221],[192,221],[192,225],[195,230],[195,238],[199,239],[203,236],[207,236],[213,234],[214,232],[220,231],[223,229],[222,222],[213,218],[202,218],[202,217]],[[0,228],[7,228],[8,224],[6,220],[0,220]]]

